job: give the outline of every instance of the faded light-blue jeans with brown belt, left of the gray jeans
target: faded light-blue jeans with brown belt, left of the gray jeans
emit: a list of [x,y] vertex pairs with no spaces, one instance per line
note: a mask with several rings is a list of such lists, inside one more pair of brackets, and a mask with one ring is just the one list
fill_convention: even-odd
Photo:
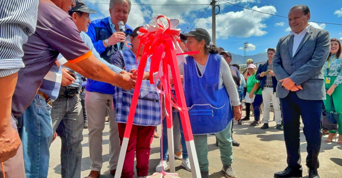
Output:
[[51,106],[36,97],[18,117],[18,132],[23,145],[26,178],[46,178],[49,170],[49,142],[53,137]]

